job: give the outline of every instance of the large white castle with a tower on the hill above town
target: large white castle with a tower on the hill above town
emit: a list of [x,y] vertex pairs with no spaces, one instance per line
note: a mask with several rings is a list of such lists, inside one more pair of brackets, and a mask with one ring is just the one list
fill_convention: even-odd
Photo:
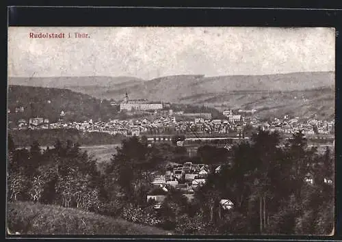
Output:
[[146,99],[129,100],[129,96],[126,93],[124,100],[120,103],[120,111],[144,111],[144,110],[157,110],[163,109],[163,102],[154,103],[148,102]]

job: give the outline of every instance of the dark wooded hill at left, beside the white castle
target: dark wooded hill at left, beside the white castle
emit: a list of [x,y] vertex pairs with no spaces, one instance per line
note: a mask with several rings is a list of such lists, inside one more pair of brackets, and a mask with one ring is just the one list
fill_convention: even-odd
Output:
[[[15,113],[16,107],[24,107],[23,113]],[[28,120],[39,116],[48,118],[50,122],[57,120],[64,111],[65,120],[84,121],[91,118],[105,120],[116,114],[118,110],[108,100],[94,98],[87,94],[59,88],[41,88],[23,85],[8,87],[8,116],[12,122],[24,118]]]

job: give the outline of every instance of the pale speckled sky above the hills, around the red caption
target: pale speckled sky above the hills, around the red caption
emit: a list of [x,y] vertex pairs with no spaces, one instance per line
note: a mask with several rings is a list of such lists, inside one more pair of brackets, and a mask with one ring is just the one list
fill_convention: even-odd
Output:
[[[90,38],[73,38],[75,32]],[[8,76],[148,80],[334,71],[334,42],[334,29],[313,27],[9,27]]]

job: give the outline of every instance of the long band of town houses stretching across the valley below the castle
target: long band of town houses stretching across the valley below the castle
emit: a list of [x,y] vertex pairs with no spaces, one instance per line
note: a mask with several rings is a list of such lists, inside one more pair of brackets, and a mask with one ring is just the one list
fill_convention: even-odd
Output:
[[[239,110],[239,113],[248,113],[248,110]],[[264,130],[279,131],[280,133],[296,133],[302,131],[306,135],[333,134],[334,120],[310,119],[305,122],[299,117],[274,118],[272,121],[263,122],[250,111],[246,116],[234,114],[226,110],[222,114],[224,119],[211,119],[208,113],[188,113],[187,120],[181,117],[187,113],[168,111],[156,111],[153,118],[135,118],[130,120],[109,120],[109,122],[87,120],[84,122],[64,122],[64,111],[60,113],[58,122],[50,123],[45,118],[30,118],[18,120],[13,129],[77,129],[83,132],[103,132],[111,135],[141,135],[141,134],[179,134],[198,133],[199,135],[241,133],[244,126],[251,125],[254,128],[261,127]],[[210,113],[209,113],[210,114]],[[210,116],[211,117],[211,116]]]

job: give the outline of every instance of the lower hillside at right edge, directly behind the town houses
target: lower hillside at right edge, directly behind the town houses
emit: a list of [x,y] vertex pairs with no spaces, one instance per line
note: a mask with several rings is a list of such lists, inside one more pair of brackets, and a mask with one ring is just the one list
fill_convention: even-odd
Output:
[[315,88],[289,92],[232,92],[215,96],[204,103],[220,111],[229,107],[257,109],[261,117],[282,117],[334,120],[334,88]]

